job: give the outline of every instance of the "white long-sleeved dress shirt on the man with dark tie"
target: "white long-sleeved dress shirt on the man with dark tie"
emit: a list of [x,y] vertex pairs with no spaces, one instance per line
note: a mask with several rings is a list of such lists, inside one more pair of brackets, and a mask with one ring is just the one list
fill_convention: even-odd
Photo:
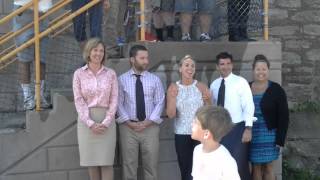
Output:
[[[254,117],[254,103],[250,86],[243,77],[229,74],[225,80],[225,100],[224,108],[226,108],[232,118],[233,123],[245,121],[246,126],[252,126]],[[214,80],[210,85],[212,100],[217,104],[218,92],[222,77]]]

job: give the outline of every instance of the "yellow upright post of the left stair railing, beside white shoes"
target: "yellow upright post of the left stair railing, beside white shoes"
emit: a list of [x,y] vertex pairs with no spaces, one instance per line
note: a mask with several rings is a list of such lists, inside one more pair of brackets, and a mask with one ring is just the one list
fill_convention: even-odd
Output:
[[33,0],[33,22],[34,22],[34,54],[36,69],[36,111],[40,111],[40,38],[39,38],[39,0]]

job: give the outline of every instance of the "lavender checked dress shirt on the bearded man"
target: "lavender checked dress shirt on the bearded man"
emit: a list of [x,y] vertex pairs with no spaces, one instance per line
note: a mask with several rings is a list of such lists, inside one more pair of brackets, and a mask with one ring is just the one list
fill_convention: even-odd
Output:
[[[136,80],[135,72],[131,69],[119,77],[118,123],[137,120],[136,112]],[[161,114],[164,107],[163,85],[156,75],[144,71],[140,77],[143,85],[146,119],[157,124],[162,122]]]

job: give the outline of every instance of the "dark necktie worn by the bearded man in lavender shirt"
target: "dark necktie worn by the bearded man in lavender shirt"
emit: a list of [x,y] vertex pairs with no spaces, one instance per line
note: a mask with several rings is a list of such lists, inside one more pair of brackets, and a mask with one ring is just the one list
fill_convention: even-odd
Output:
[[143,121],[146,118],[143,86],[140,79],[141,75],[135,74],[135,76],[137,77],[137,81],[136,81],[137,118],[139,119],[139,121]]

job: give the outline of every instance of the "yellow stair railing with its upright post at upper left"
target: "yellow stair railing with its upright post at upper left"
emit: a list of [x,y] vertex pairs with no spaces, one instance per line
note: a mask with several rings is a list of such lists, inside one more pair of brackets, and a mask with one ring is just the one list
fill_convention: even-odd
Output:
[[[48,36],[50,33],[54,32],[58,28],[61,28],[62,25],[70,22],[74,17],[78,16],[79,14],[87,11],[92,6],[96,5],[100,2],[100,0],[92,0],[82,8],[78,9],[77,11],[70,13],[67,12],[59,17],[57,17],[55,20],[53,20],[50,23],[50,26],[44,30],[43,32],[39,32],[39,21],[43,20],[44,18],[47,18],[49,15],[53,14],[57,10],[61,9],[68,3],[70,3],[72,0],[60,0],[58,3],[56,3],[49,11],[47,11],[45,14],[43,14],[41,17],[39,17],[39,11],[38,11],[38,1],[39,0],[32,0],[31,2],[25,4],[23,7],[15,10],[14,12],[10,13],[6,17],[2,18],[0,20],[0,25],[3,23],[6,23],[10,21],[13,17],[23,13],[25,10],[31,8],[33,6],[34,9],[34,21],[21,29],[19,29],[16,32],[8,32],[5,35],[0,37],[0,46],[7,43],[9,40],[13,39],[14,37],[20,35],[27,29],[34,27],[34,37],[25,42],[24,44],[20,45],[19,47],[10,46],[9,48],[5,49],[4,51],[0,52],[0,65],[1,67],[7,66],[15,61],[16,58],[13,58],[16,56],[17,53],[24,50],[25,48],[35,44],[35,77],[36,77],[36,89],[35,89],[35,96],[36,96],[36,110],[40,111],[40,39]],[[63,28],[62,28],[63,29]],[[65,29],[65,28],[64,28]],[[61,29],[58,31],[60,32]]]

